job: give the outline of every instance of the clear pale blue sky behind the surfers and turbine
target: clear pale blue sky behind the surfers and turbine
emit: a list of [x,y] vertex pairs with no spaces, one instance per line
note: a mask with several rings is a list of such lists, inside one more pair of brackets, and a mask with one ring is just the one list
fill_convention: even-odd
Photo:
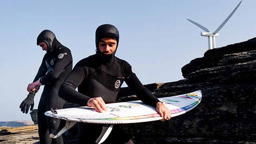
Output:
[[[208,38],[187,18],[212,32],[240,0],[6,0],[0,5],[0,121],[31,120],[20,103],[42,62],[36,45],[42,30],[54,32],[70,48],[73,66],[95,54],[95,30],[102,24],[118,28],[116,56],[130,63],[142,82],[184,79],[181,68],[208,50]],[[256,1],[243,0],[218,32],[216,47],[256,37]],[[204,31],[203,31],[204,32]],[[126,86],[125,84],[123,87]],[[43,90],[34,98],[34,108]]]

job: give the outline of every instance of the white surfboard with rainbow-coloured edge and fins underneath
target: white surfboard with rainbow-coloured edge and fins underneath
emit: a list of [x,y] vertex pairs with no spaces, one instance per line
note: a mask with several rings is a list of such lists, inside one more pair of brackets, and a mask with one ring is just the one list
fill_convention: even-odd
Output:
[[[195,108],[201,102],[202,92],[201,90],[198,90],[188,94],[158,99],[167,108],[169,108],[172,117],[175,117]],[[108,111],[103,113],[96,112],[94,108],[88,106],[45,112],[46,116],[62,120],[59,128],[53,132],[50,137],[56,138],[60,136],[65,132],[65,130],[68,130],[76,122],[96,124],[128,124],[162,119],[160,114],[158,114],[156,111],[156,108],[146,105],[140,100],[106,104],[106,107],[108,108]],[[111,130],[106,129],[106,131]],[[102,134],[102,136],[104,136],[104,134]]]

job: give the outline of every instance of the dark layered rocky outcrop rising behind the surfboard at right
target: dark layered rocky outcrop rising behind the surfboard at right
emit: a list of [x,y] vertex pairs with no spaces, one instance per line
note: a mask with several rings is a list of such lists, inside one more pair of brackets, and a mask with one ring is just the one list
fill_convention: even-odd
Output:
[[[166,122],[122,124],[134,143],[256,144],[256,38],[208,50],[182,75],[149,90],[158,98],[201,90],[201,103]],[[118,102],[138,100],[129,88],[118,96]]]

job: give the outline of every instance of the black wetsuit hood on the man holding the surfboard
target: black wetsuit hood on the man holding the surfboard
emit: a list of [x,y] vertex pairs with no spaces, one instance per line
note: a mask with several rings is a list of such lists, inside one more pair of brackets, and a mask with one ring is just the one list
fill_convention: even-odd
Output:
[[95,42],[96,42],[96,54],[102,58],[104,62],[109,62],[114,58],[116,50],[112,54],[103,54],[99,49],[100,39],[103,37],[116,38],[116,49],[119,42],[119,32],[117,28],[111,24],[103,24],[96,29]]

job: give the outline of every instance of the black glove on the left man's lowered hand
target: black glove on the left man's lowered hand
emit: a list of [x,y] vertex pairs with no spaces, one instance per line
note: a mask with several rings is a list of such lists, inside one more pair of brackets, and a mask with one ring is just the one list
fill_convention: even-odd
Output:
[[21,102],[20,104],[20,110],[26,114],[28,113],[28,110],[30,108],[30,111],[33,110],[34,108],[34,97],[35,97],[36,92],[32,91],[28,94],[28,96]]

